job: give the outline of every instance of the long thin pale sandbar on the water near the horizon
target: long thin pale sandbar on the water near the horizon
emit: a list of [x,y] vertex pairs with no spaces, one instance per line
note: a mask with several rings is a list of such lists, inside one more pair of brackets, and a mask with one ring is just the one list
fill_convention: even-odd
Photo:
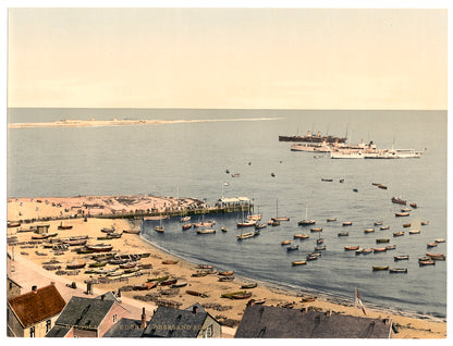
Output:
[[185,123],[209,123],[209,122],[253,122],[282,120],[284,118],[236,118],[236,119],[196,119],[196,120],[59,120],[56,122],[41,123],[13,123],[9,128],[30,127],[99,127],[99,126],[131,126],[131,125],[163,125]]

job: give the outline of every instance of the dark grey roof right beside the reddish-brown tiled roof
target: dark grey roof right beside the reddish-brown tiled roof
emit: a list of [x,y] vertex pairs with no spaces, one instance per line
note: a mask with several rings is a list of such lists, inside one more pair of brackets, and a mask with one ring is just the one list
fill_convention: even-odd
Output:
[[56,324],[97,329],[113,304],[115,301],[110,299],[72,297],[61,311]]

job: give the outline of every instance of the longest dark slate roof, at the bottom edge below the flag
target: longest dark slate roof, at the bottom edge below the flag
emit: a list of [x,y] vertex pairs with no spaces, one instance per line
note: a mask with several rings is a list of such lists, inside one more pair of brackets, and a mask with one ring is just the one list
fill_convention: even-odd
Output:
[[266,338],[388,338],[391,323],[325,312],[250,306],[234,337]]

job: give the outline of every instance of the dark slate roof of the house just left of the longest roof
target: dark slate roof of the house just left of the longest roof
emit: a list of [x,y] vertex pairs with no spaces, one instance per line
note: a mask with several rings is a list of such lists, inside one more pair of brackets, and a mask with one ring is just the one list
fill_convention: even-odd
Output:
[[208,314],[158,307],[143,337],[197,337]]

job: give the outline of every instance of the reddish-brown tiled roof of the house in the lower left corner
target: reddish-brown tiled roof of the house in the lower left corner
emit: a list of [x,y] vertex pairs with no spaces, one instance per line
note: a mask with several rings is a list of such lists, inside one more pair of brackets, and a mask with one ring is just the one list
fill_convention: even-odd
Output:
[[60,313],[66,305],[54,285],[11,298],[8,304],[24,328]]

